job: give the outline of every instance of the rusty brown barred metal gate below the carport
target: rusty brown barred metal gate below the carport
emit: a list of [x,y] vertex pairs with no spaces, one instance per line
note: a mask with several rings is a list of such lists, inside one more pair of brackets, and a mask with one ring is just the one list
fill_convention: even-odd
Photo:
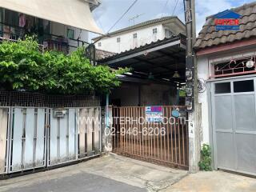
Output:
[[[161,106],[161,119],[148,121],[147,107],[114,107],[113,151],[130,158],[164,166],[188,169],[186,113],[174,118],[185,106]],[[176,113],[177,114],[177,113]]]

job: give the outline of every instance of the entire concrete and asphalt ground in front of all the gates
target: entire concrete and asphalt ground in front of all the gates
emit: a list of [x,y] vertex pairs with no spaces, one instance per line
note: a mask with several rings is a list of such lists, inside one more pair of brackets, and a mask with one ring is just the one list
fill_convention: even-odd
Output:
[[0,191],[21,192],[252,192],[256,179],[222,171],[187,174],[110,154],[74,166],[0,181]]

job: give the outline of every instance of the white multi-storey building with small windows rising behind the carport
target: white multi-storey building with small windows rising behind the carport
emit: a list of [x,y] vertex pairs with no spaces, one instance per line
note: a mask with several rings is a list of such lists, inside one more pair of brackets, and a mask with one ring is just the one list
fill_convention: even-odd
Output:
[[93,41],[97,49],[121,53],[180,33],[186,34],[185,31],[178,17],[164,17],[114,31],[107,37],[93,38]]

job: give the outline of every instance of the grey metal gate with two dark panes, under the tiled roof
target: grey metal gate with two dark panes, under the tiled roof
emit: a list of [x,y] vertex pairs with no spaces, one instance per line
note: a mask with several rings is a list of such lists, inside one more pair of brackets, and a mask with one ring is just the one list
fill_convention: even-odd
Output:
[[215,168],[256,175],[256,78],[211,86]]

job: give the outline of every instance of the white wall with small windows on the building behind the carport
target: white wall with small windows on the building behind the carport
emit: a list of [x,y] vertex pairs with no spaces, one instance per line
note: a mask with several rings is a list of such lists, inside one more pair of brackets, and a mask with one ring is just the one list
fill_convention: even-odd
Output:
[[[153,29],[157,28],[158,33],[153,34]],[[126,31],[122,34],[115,34],[110,38],[102,38],[96,43],[96,48],[99,50],[107,50],[114,53],[121,53],[126,50],[131,50],[139,46],[145,46],[146,43],[156,42],[159,39],[165,38],[165,29],[167,27],[158,24],[156,26],[146,26],[145,28]],[[137,39],[134,39],[134,34],[137,33]],[[117,42],[120,38],[121,42]],[[99,46],[101,44],[101,46]]]

